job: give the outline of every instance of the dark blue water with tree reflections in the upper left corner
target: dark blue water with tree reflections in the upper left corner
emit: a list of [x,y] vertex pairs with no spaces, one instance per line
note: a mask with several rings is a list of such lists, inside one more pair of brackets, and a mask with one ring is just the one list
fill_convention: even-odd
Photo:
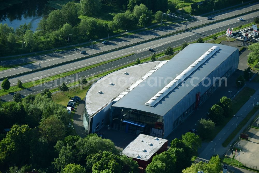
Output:
[[24,23],[32,23],[32,31],[38,27],[42,17],[47,16],[51,10],[47,0],[27,0],[14,4],[0,11],[0,23],[8,24],[15,30]]

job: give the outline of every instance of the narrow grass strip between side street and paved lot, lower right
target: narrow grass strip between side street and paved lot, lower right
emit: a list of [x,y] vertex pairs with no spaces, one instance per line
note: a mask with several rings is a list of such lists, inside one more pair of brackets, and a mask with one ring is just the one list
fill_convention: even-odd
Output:
[[234,139],[234,137],[239,133],[239,131],[246,125],[246,123],[249,121],[249,119],[255,114],[255,112],[258,110],[258,107],[254,107],[253,110],[251,110],[247,116],[239,123],[238,127],[236,127],[236,130],[234,130],[227,139],[222,143],[223,147],[227,147],[227,145]]

